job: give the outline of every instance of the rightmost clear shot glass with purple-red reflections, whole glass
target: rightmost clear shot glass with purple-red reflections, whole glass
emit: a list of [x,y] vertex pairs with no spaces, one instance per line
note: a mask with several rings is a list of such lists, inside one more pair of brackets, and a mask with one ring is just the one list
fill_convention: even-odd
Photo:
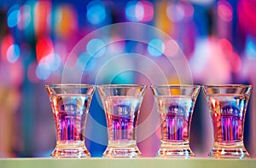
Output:
[[212,116],[214,142],[210,157],[216,159],[249,158],[243,143],[247,102],[253,86],[242,84],[204,85]]

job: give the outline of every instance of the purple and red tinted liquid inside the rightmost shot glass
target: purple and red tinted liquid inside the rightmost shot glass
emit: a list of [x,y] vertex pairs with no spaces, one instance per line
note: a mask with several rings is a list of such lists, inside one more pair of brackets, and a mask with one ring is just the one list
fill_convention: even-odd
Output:
[[243,127],[247,99],[245,96],[210,96],[210,109],[215,142],[239,142]]

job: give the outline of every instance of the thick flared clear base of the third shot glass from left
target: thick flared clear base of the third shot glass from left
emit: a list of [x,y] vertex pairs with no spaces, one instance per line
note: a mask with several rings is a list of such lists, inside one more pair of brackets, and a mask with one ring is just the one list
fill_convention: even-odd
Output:
[[195,154],[189,148],[189,142],[161,142],[158,158],[191,158]]

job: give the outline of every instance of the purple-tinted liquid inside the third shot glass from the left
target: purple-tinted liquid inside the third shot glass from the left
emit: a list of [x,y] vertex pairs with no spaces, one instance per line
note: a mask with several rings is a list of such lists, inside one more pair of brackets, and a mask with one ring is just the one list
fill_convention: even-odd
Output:
[[189,96],[157,96],[157,109],[161,119],[161,140],[188,142],[194,102]]

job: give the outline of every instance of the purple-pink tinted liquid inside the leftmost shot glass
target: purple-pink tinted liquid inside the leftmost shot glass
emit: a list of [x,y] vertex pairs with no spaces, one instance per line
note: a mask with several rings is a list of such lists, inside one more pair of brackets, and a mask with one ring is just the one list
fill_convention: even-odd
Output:
[[84,141],[85,120],[90,104],[90,97],[85,96],[52,96],[54,109],[56,141]]

